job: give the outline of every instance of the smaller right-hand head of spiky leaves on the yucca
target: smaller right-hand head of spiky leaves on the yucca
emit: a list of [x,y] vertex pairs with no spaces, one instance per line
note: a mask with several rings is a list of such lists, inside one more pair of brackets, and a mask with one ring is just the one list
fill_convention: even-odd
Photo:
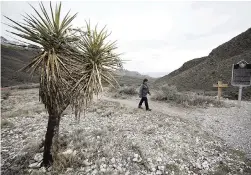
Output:
[[[110,34],[105,27],[98,31],[97,26],[94,30],[91,29],[90,22],[86,22],[86,26],[87,31],[84,31],[75,45],[81,53],[77,57],[83,62],[83,71],[72,89],[77,89],[80,93],[76,96],[76,101],[84,99],[81,105],[88,104],[93,94],[103,90],[102,83],[116,84],[113,72],[122,67],[119,54],[114,52],[117,48],[116,42],[107,40]],[[78,106],[81,106],[80,104]]]

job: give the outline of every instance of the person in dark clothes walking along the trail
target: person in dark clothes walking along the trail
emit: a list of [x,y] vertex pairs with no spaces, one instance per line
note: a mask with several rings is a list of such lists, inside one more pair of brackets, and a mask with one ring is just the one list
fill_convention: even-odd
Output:
[[149,108],[148,99],[147,99],[147,94],[151,95],[151,93],[149,91],[149,87],[147,85],[147,82],[148,82],[148,80],[144,79],[143,84],[140,86],[139,97],[141,98],[141,100],[139,102],[138,108],[143,109],[142,104],[143,104],[143,102],[145,102],[146,110],[151,111],[151,109]]

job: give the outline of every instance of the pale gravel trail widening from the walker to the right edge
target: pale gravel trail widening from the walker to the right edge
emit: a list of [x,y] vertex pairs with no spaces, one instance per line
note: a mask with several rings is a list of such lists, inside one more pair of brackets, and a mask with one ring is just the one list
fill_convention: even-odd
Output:
[[[105,100],[119,102],[130,108],[137,108],[139,98]],[[225,101],[229,107],[223,108],[182,108],[163,102],[149,102],[152,112],[177,116],[200,126],[204,131],[224,140],[227,145],[240,149],[251,159],[251,102],[242,102],[239,108],[235,101]]]

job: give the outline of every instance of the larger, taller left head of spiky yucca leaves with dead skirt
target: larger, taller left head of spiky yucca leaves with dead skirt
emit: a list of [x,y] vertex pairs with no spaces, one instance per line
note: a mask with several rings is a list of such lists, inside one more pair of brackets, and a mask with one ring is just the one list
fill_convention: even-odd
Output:
[[69,103],[67,91],[76,81],[71,76],[72,71],[75,70],[74,64],[77,64],[71,57],[70,43],[74,41],[74,37],[68,32],[76,14],[70,16],[67,13],[60,20],[61,3],[59,6],[56,5],[55,11],[50,3],[50,13],[42,3],[40,3],[40,13],[35,7],[31,7],[37,16],[26,14],[24,23],[6,18],[14,23],[11,27],[17,32],[11,32],[12,34],[43,47],[43,51],[24,69],[31,74],[35,71],[39,72],[39,92],[42,102],[49,113],[60,114]]

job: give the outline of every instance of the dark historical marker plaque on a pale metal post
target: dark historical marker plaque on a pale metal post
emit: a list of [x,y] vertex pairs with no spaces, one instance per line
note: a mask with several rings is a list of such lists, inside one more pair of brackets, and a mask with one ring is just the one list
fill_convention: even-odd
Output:
[[233,64],[231,84],[239,87],[238,103],[241,106],[242,88],[251,85],[251,64],[244,60]]

